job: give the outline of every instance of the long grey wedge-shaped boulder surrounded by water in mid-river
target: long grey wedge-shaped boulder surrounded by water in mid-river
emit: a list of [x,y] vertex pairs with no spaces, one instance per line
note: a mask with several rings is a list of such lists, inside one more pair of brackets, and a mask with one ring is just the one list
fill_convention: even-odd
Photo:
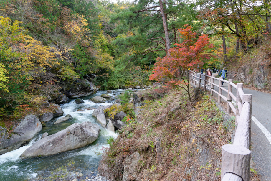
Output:
[[100,127],[91,122],[74,123],[55,134],[40,139],[27,148],[21,157],[49,156],[92,144],[99,136]]

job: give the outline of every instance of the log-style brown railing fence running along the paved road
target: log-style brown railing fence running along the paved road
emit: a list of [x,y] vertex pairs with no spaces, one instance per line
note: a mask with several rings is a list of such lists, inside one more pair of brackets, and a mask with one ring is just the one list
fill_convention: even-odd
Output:
[[[206,73],[201,74],[193,71],[189,71],[189,76],[190,83],[194,85],[198,83],[198,87],[202,85],[204,90],[211,91],[211,96],[216,93],[218,103],[221,103],[222,99],[226,101],[227,113],[232,111],[236,116],[234,142],[222,146],[221,180],[249,181],[252,95],[244,94],[243,84],[237,83],[235,85],[232,79],[227,81],[222,77],[215,78],[214,75],[208,76]],[[218,80],[219,84],[215,84],[214,80]],[[227,83],[228,90],[222,86],[222,82]],[[211,86],[207,86],[207,83]],[[218,92],[214,90],[214,87],[218,87]],[[236,89],[236,95],[232,93],[232,88]],[[222,91],[227,93],[227,97],[222,95]]]

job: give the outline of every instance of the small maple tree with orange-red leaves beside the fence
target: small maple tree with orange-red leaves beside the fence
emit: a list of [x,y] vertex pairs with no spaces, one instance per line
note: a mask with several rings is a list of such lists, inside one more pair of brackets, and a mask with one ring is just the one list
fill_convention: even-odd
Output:
[[210,38],[206,34],[197,37],[191,26],[186,24],[184,27],[186,28],[179,29],[182,43],[175,43],[176,47],[169,49],[168,56],[157,58],[149,80],[166,82],[168,88],[183,88],[188,93],[189,101],[192,102],[189,78],[184,77],[184,71],[203,64],[204,60],[213,56],[206,53],[206,50],[213,48],[214,45],[209,43]]

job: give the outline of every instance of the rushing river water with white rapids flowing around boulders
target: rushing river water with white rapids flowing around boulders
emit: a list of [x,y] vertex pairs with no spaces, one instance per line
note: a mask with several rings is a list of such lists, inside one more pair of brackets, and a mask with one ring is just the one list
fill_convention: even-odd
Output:
[[[123,89],[115,90],[114,93],[107,93],[112,97],[115,97],[124,91]],[[63,165],[67,165],[72,160],[75,162],[70,171],[78,171],[84,176],[97,174],[98,164],[101,159],[101,152],[105,147],[108,147],[106,140],[110,137],[116,137],[117,134],[112,131],[108,131],[103,128],[101,124],[96,121],[96,118],[92,116],[94,110],[87,110],[88,107],[98,108],[99,106],[106,106],[112,104],[113,101],[106,101],[106,103],[94,103],[88,100],[94,96],[100,96],[105,94],[106,91],[98,91],[96,94],[91,96],[86,96],[81,99],[85,103],[76,104],[75,99],[71,100],[69,103],[62,104],[61,108],[64,112],[63,116],[70,114],[72,119],[65,121],[60,124],[53,124],[54,121],[60,117],[47,122],[46,127],[42,128],[39,132],[26,146],[20,147],[14,151],[0,155],[0,180],[1,181],[23,181],[23,180],[49,180],[48,177],[51,176],[51,172]],[[84,109],[85,111],[77,111],[77,109]],[[62,117],[63,117],[62,116]],[[41,139],[43,133],[47,132],[52,135],[62,129],[67,128],[73,123],[82,123],[84,121],[90,121],[92,123],[98,124],[100,126],[100,135],[98,139],[86,147],[75,149],[68,152],[63,152],[60,154],[47,156],[47,157],[37,157],[37,158],[27,158],[22,159],[20,155],[30,147],[32,144]]]

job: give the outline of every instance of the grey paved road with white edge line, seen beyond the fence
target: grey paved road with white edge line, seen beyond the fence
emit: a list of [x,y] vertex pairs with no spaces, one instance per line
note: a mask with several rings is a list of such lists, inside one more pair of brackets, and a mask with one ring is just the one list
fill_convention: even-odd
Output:
[[[202,78],[204,79],[204,76]],[[204,81],[201,80],[201,82]],[[219,85],[218,80],[214,83]],[[228,89],[227,83],[224,83],[224,88]],[[218,92],[218,87],[214,86],[214,90]],[[252,94],[252,116],[271,133],[271,94],[247,88],[243,88],[243,91],[245,94]],[[232,93],[236,95],[235,88],[232,88]],[[227,93],[223,90],[222,95],[227,97]],[[217,94],[214,93],[214,96],[217,97]],[[251,158],[254,162],[252,167],[261,175],[262,181],[271,181],[271,143],[254,121],[252,121],[251,142]]]

